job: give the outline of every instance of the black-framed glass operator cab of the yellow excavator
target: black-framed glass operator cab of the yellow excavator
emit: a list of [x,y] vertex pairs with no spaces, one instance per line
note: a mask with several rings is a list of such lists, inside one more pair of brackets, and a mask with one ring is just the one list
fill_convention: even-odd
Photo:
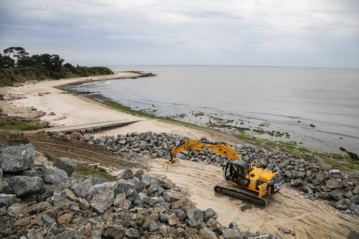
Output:
[[[226,181],[235,183],[242,187],[248,187],[249,185],[249,172],[247,168],[244,168],[244,165],[238,164],[238,162],[243,161],[235,161],[227,164],[225,171]],[[244,162],[245,163],[245,162]]]

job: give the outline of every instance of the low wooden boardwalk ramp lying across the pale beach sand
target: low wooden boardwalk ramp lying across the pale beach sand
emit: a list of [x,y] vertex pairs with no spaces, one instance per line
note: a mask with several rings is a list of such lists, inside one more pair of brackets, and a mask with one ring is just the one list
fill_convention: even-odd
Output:
[[60,127],[53,127],[53,128],[46,128],[43,129],[47,132],[62,132],[62,133],[69,133],[79,131],[82,133],[93,133],[94,131],[102,132],[103,130],[115,129],[116,127],[121,127],[124,125],[129,125],[138,121],[134,120],[118,120],[118,121],[104,121],[104,122],[95,122],[95,123],[88,123],[82,125],[69,125],[69,126],[60,126]]

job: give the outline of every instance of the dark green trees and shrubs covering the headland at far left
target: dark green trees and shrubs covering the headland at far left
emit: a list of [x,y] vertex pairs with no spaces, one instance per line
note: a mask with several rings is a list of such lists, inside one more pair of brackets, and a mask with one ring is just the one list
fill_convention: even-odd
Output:
[[113,74],[107,67],[74,67],[70,63],[63,65],[64,62],[58,55],[46,53],[29,56],[22,47],[7,48],[4,55],[0,54],[0,86],[12,86],[25,81]]

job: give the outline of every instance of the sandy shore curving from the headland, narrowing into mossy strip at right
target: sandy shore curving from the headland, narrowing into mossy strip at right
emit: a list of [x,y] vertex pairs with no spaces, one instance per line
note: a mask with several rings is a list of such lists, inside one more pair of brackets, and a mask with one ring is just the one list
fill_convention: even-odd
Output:
[[[321,164],[327,169],[333,167],[340,168],[341,170],[345,171],[351,170],[349,167],[347,167],[348,164],[336,165],[336,161],[343,161],[348,159],[348,157],[343,156],[344,154],[332,154],[332,152],[325,153],[320,149],[314,149],[315,152],[319,152],[316,155],[320,155],[318,157],[314,157],[313,149],[307,150],[306,148],[301,147],[301,145],[297,145],[296,143],[293,144],[293,142],[277,142],[272,140],[264,140],[263,138],[255,137],[250,133],[247,134],[244,131],[240,131],[240,133],[238,133],[238,135],[242,133],[242,137],[240,137],[237,135],[233,135],[232,133],[222,131],[220,129],[215,129],[210,126],[198,126],[193,123],[183,123],[183,125],[194,126],[191,128],[183,125],[173,126],[173,122],[171,123],[169,120],[167,120],[167,118],[164,117],[155,116],[155,119],[148,119],[146,116],[144,117],[144,114],[152,114],[146,112],[144,113],[142,111],[137,111],[141,112],[142,115],[134,116],[131,114],[131,112],[128,112],[128,110],[117,110],[113,107],[107,106],[101,101],[91,98],[89,94],[86,95],[86,93],[82,93],[85,94],[85,96],[80,96],[80,94],[73,94],[73,92],[71,91],[70,93],[64,92],[64,90],[66,90],[66,86],[73,84],[82,84],[84,82],[90,81],[105,81],[108,79],[124,79],[136,77],[143,77],[143,74],[139,72],[114,72],[114,75],[74,77],[67,79],[28,83],[21,87],[7,87],[5,91],[9,94],[16,95],[17,99],[14,99],[10,105],[7,105],[5,107],[3,106],[2,108],[4,112],[11,112],[11,110],[14,109],[14,106],[15,109],[19,109],[19,111],[21,111],[21,108],[23,107],[25,109],[30,109],[28,111],[31,113],[34,112],[33,109],[35,108],[37,109],[37,111],[43,112],[44,115],[41,116],[41,120],[49,122],[50,126],[76,125],[83,123],[94,123],[99,121],[111,121],[114,119],[124,118],[129,118],[130,120],[141,120],[140,122],[133,123],[131,125],[127,125],[121,128],[112,129],[103,133],[96,133],[96,136],[108,134],[126,134],[127,132],[134,131],[146,132],[148,130],[152,132],[165,132],[167,130],[168,132],[182,134],[193,138],[200,138],[202,136],[206,136],[211,140],[218,142],[232,141],[234,143],[240,144],[252,144],[256,145],[257,147],[263,147],[270,150],[286,151],[291,154],[306,158],[306,160],[315,160],[318,164]],[[4,89],[1,90],[0,93],[2,91],[4,91]],[[79,113],[78,108],[81,109],[81,113]],[[21,114],[21,112],[16,113]],[[181,119],[175,117],[172,117],[172,120],[177,122],[183,122],[181,121]],[[335,158],[332,158],[332,156],[335,156]],[[331,164],[333,160],[335,160],[334,165]],[[358,173],[358,170],[354,169],[353,173]]]

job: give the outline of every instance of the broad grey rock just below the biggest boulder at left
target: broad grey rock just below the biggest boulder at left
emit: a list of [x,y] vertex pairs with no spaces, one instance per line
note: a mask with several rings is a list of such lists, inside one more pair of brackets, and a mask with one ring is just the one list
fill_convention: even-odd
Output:
[[12,176],[9,185],[17,196],[26,196],[40,190],[43,180],[41,177]]

